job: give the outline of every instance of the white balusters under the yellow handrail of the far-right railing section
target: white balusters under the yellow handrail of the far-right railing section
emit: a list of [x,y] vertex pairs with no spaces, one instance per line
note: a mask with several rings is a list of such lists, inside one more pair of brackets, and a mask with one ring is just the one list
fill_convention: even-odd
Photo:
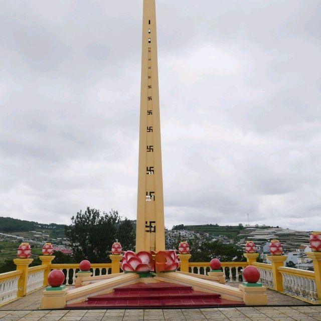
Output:
[[315,280],[304,275],[295,275],[281,271],[283,278],[283,292],[297,298],[304,298],[311,302],[317,300]]

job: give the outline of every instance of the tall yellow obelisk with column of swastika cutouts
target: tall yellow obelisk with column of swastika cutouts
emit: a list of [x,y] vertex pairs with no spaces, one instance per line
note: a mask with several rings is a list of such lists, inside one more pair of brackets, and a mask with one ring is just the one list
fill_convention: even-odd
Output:
[[143,0],[136,252],[165,250],[155,0]]

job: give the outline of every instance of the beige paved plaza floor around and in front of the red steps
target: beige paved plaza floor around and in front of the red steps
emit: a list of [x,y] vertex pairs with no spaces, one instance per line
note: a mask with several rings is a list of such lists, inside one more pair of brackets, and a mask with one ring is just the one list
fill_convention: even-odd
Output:
[[[40,310],[43,289],[0,308],[1,321],[321,321],[321,305],[268,290],[269,306],[191,309]],[[287,305],[287,306],[286,306]]]

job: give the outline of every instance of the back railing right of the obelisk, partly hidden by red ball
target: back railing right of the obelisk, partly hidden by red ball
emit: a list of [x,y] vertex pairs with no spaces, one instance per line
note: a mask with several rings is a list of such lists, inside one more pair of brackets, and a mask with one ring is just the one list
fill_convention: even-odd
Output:
[[[247,262],[221,262],[225,279],[229,282],[242,281],[242,269],[248,265]],[[209,262],[189,262],[189,272],[207,275],[210,271]]]

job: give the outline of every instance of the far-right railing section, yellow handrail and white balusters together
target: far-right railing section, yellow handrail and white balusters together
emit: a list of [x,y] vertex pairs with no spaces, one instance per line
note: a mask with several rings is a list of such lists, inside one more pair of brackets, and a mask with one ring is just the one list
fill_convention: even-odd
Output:
[[317,301],[315,276],[313,271],[279,267],[283,278],[283,293],[307,302]]

